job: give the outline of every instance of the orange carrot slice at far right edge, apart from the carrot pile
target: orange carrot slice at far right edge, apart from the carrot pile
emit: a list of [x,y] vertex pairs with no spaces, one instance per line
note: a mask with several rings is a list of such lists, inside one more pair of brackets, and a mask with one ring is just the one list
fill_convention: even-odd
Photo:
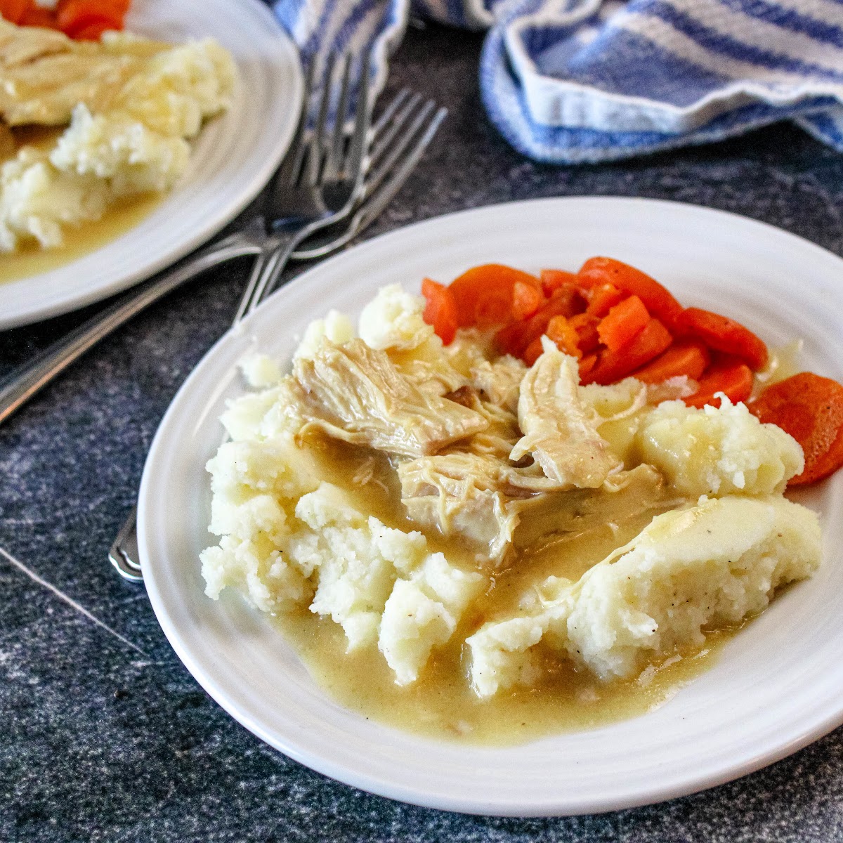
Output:
[[768,386],[749,406],[802,445],[805,470],[788,485],[822,480],[843,465],[843,386],[811,372]]

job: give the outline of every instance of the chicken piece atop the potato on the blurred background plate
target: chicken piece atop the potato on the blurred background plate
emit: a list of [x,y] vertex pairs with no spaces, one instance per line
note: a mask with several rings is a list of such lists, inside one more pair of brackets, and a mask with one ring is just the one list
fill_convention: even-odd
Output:
[[0,115],[9,126],[63,126],[79,103],[104,110],[150,56],[168,49],[141,38],[74,41],[0,19]]

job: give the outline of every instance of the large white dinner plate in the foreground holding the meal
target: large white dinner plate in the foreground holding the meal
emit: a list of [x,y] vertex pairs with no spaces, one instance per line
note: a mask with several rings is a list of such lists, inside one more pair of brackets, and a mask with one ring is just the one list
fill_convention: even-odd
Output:
[[311,319],[358,314],[384,284],[417,292],[491,261],[538,271],[612,255],[686,306],[740,319],[771,346],[803,337],[806,369],[843,380],[843,260],[764,223],[673,202],[514,202],[419,223],[326,260],[217,342],[176,395],[143,473],[145,582],[175,651],[212,697],[292,758],[386,797],[470,813],[546,815],[627,808],[759,769],[843,722],[843,474],[800,496],[822,513],[824,563],[728,642],[661,708],[591,731],[506,749],[402,733],[326,697],[266,616],[234,593],[203,593],[199,552],[217,416],[241,395],[236,363],[257,347],[287,359]]

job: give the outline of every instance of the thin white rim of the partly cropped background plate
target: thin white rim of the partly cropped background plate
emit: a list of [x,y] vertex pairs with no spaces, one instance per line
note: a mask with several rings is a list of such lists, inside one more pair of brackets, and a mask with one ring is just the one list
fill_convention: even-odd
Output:
[[[277,34],[280,36],[280,41],[284,45],[283,49],[287,51],[288,56],[291,59],[290,72],[292,74],[291,82],[293,87],[293,108],[291,111],[298,115],[298,112],[301,110],[304,91],[304,75],[298,45],[287,33],[287,30],[284,30],[275,15],[272,13],[271,8],[267,6],[266,3],[261,3],[260,0],[228,0],[228,2],[236,2],[242,7],[250,8],[260,18],[264,19],[266,24],[270,24],[273,29],[277,30]],[[245,91],[241,91],[241,95],[245,95],[246,93],[247,92]],[[224,116],[225,115],[221,115],[221,119],[224,119]],[[11,328],[17,328],[24,325],[33,325],[45,319],[51,319],[56,316],[72,313],[73,311],[82,309],[89,304],[102,301],[105,298],[110,298],[117,293],[122,293],[142,281],[157,275],[159,272],[164,271],[169,266],[173,266],[178,260],[181,260],[186,255],[190,255],[191,252],[199,248],[202,244],[207,243],[216,234],[219,234],[219,232],[222,231],[228,223],[231,223],[241,212],[244,211],[246,207],[249,207],[250,203],[255,200],[255,197],[260,194],[260,191],[263,190],[266,183],[270,180],[271,175],[278,168],[278,165],[281,164],[282,158],[287,153],[287,148],[289,148],[290,143],[293,141],[293,135],[296,131],[297,124],[298,117],[296,120],[287,121],[285,126],[282,127],[282,132],[279,132],[278,134],[277,142],[273,148],[273,154],[266,158],[260,168],[255,169],[249,179],[244,180],[244,183],[239,187],[239,191],[237,192],[234,200],[221,206],[216,213],[212,214],[212,216],[207,219],[206,223],[196,228],[190,236],[185,237],[185,239],[181,240],[180,243],[175,244],[166,252],[162,252],[154,260],[150,260],[145,266],[142,266],[135,271],[126,272],[119,277],[115,277],[110,282],[104,283],[95,289],[75,293],[58,301],[50,301],[32,306],[18,305],[11,314],[4,313],[0,310],[0,330],[9,330]],[[178,188],[178,185],[175,186]],[[163,201],[156,208],[156,212],[161,209],[165,209],[169,201],[173,198],[174,195],[172,192],[164,196]],[[126,232],[126,234],[128,234],[128,232]],[[109,243],[104,245],[108,245],[111,242],[113,241],[109,241]],[[96,252],[102,248],[103,247],[100,246],[98,249],[95,249],[90,253],[81,255],[81,257],[84,258],[89,255],[95,255]],[[57,267],[56,270],[62,271],[68,267],[72,267],[77,260],[78,259],[70,260]],[[3,284],[0,285],[0,292],[2,292],[3,287],[12,287],[13,285],[19,283],[23,284],[34,282],[37,284],[39,279],[43,280],[46,274],[48,273],[38,273],[37,275],[25,276],[13,279],[12,281],[3,282]]]

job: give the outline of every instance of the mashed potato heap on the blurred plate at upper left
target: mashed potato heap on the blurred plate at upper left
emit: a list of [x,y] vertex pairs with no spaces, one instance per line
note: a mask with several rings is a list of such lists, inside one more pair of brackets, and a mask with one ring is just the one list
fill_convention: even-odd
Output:
[[[148,43],[117,33],[104,39],[107,51],[128,53]],[[140,62],[103,110],[76,105],[53,148],[24,146],[0,168],[0,250],[32,239],[59,246],[62,227],[99,219],[121,197],[168,191],[202,122],[228,109],[236,78],[228,52],[199,40]]]

